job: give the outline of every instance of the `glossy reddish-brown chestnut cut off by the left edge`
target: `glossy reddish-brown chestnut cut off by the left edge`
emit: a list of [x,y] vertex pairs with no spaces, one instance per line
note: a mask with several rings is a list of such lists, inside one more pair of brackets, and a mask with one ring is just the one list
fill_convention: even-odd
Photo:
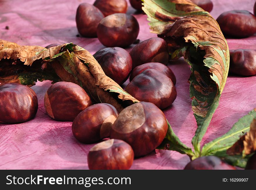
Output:
[[0,123],[29,121],[37,109],[37,96],[31,88],[17,83],[0,85]]

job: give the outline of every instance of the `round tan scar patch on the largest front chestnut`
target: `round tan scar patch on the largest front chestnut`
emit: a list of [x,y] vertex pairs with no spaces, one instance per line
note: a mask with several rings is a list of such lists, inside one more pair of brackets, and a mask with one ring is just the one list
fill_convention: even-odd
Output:
[[144,108],[141,103],[136,103],[120,112],[112,129],[118,133],[130,133],[140,128],[145,123]]

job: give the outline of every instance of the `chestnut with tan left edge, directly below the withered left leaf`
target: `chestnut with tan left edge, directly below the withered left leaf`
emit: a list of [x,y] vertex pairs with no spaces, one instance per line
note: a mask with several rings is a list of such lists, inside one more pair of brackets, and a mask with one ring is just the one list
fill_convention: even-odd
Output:
[[58,82],[45,93],[45,110],[56,120],[73,121],[92,101],[83,88],[75,83]]

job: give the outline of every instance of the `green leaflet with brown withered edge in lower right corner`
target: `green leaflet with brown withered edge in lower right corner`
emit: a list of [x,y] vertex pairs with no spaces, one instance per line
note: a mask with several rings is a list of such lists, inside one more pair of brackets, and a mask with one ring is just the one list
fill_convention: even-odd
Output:
[[256,108],[239,119],[226,134],[205,144],[201,156],[218,156],[244,168],[256,149],[255,121]]

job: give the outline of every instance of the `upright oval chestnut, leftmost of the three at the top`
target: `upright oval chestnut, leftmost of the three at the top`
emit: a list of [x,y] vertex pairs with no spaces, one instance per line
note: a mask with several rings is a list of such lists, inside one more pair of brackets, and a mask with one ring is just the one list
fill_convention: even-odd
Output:
[[97,37],[97,26],[104,18],[102,12],[89,3],[82,3],[77,8],[77,30],[83,37]]

